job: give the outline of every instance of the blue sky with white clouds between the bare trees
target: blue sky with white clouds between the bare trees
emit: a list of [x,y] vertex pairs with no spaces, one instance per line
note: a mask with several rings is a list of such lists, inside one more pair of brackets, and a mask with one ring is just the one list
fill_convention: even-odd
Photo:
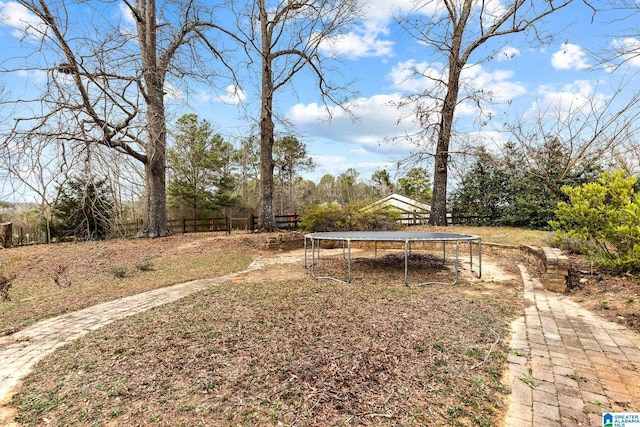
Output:
[[[495,0],[500,7],[500,0]],[[295,86],[276,95],[277,112],[292,125],[291,130],[307,145],[317,168],[306,177],[319,180],[325,173],[335,176],[348,168],[355,168],[360,178],[367,180],[379,169],[395,173],[396,162],[405,159],[415,147],[394,136],[411,133],[415,126],[411,120],[400,120],[410,115],[409,110],[393,106],[404,95],[422,90],[430,84],[427,79],[411,77],[409,68],[441,75],[442,58],[429,54],[395,24],[393,14],[408,10],[410,0],[371,0],[365,7],[365,16],[350,31],[334,40],[333,52],[341,54],[340,71],[343,80],[355,80],[352,89],[357,98],[350,107],[355,121],[339,108],[330,106],[332,121],[327,121],[326,109],[320,104],[318,93],[310,88],[308,74],[295,80]],[[123,7],[114,5],[114,15],[123,13]],[[123,25],[129,19],[120,16]],[[558,31],[556,39],[547,45],[530,44],[521,36],[506,36],[479,50],[464,72],[465,82],[472,87],[491,92],[494,103],[485,105],[484,113],[491,111],[492,120],[478,120],[478,108],[462,104],[458,109],[457,126],[477,141],[500,145],[504,120],[535,118],[540,110],[557,113],[576,108],[577,105],[599,99],[606,104],[619,82],[627,81],[629,92],[640,89],[638,77],[640,60],[627,63],[630,71],[616,73],[595,67],[592,53],[615,45],[640,45],[640,39],[629,37],[636,22],[631,20],[612,24],[616,18],[609,13],[593,12],[583,2],[574,2],[568,8],[551,16],[545,29]],[[637,18],[637,17],[636,17]],[[20,29],[30,17],[16,3],[0,2],[0,62],[20,52]],[[636,32],[637,36],[637,32]],[[492,58],[482,61],[492,54]],[[482,61],[482,62],[479,62]],[[38,84],[37,73],[14,72],[2,77],[12,92],[30,90]],[[340,79],[338,79],[340,80]],[[245,117],[248,112],[257,117],[257,93],[250,84],[243,85],[239,96],[228,83],[220,87],[194,86],[189,94],[177,87],[169,87],[168,104],[171,117],[183,113],[196,113],[209,120],[229,139],[251,132]],[[234,93],[236,95],[234,95]],[[282,133],[288,130],[280,128]],[[423,164],[429,170],[428,163]]]

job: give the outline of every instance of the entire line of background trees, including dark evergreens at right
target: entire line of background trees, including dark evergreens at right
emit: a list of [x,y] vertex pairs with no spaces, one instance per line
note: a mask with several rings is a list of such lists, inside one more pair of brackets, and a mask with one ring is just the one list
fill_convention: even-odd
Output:
[[[170,218],[247,218],[259,213],[256,137],[243,138],[234,145],[206,120],[187,114],[177,121],[169,140]],[[297,137],[286,135],[275,141],[277,214],[324,215],[326,209],[318,211],[323,204],[344,206],[347,212],[393,192],[424,203],[431,201],[431,176],[423,167],[409,169],[397,179],[387,170],[362,178],[354,168],[337,176],[326,174],[318,182],[303,178],[314,167],[306,144]],[[563,189],[596,182],[605,166],[598,157],[584,156],[576,161],[558,138],[547,138],[529,150],[511,142],[497,153],[478,149],[460,170],[449,200],[456,223],[550,229],[558,203],[569,200]],[[119,225],[140,220],[135,202],[123,204],[114,188],[106,176],[70,177],[57,188],[44,220],[33,209],[11,215],[7,203],[2,205],[2,217],[17,220],[17,225],[37,223],[50,239],[68,235],[103,239],[114,235]]]

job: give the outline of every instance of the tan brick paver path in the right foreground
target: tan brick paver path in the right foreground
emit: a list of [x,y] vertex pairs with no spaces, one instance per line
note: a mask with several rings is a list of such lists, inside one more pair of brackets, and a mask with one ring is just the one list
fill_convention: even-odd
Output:
[[530,305],[513,323],[506,426],[595,427],[603,412],[640,412],[640,335],[521,273]]

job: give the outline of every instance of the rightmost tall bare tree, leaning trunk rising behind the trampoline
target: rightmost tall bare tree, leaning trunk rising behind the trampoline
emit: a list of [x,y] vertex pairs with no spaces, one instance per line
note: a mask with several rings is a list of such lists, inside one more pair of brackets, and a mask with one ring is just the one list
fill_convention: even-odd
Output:
[[[473,93],[461,90],[461,75],[471,55],[490,40],[511,34],[530,30],[541,38],[536,25],[570,3],[571,0],[515,0],[509,4],[473,0],[416,0],[411,13],[399,19],[405,31],[426,49],[442,57],[444,64],[442,72],[425,74],[423,70],[414,70],[431,79],[433,88],[409,98],[415,105],[417,120],[423,128],[421,137],[435,139],[429,220],[432,225],[447,225],[448,162],[456,108],[462,100],[474,97]],[[475,96],[480,94],[476,93]],[[478,102],[477,98],[474,101]]]

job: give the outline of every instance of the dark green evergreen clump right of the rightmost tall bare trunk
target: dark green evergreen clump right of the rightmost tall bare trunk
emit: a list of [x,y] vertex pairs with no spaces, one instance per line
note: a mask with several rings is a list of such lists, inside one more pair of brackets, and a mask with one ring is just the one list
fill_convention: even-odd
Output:
[[479,150],[453,193],[454,217],[477,225],[549,229],[563,186],[591,182],[593,163],[572,164],[557,138],[528,152],[507,143],[502,156]]

